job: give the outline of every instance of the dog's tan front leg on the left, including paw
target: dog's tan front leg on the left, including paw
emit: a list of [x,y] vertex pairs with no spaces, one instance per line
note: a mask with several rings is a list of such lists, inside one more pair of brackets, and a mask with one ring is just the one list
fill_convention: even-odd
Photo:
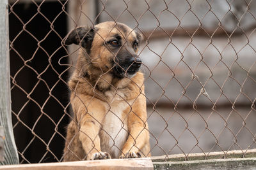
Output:
[[[99,99],[77,95],[71,97],[72,108],[79,124],[79,141],[86,155],[86,160],[110,159],[109,153],[101,152],[99,131],[106,112]],[[90,101],[87,103],[86,101]],[[83,152],[83,153],[84,153]]]

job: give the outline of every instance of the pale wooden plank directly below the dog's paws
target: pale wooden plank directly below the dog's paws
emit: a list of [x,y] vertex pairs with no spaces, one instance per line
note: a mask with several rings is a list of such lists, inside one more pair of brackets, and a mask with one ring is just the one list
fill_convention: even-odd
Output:
[[42,163],[42,164],[21,164],[12,166],[0,166],[0,170],[86,170],[86,169],[112,169],[112,170],[131,170],[153,169],[150,158],[141,159],[106,159],[106,160],[87,160],[77,162]]

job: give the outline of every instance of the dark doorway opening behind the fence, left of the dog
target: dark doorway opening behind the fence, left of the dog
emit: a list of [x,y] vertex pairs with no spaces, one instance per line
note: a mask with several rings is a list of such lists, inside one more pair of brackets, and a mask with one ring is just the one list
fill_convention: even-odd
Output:
[[58,162],[62,156],[68,59],[61,46],[67,34],[61,2],[9,6],[12,118],[20,163]]

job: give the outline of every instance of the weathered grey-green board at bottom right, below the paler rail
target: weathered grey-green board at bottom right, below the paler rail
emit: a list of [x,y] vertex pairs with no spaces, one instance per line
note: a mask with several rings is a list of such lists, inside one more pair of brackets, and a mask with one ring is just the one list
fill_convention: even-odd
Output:
[[256,158],[154,162],[154,169],[256,169]]

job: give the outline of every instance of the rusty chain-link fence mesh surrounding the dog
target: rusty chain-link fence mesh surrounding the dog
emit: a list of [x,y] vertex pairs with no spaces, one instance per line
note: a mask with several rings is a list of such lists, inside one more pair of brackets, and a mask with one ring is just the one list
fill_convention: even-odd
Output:
[[[12,118],[20,163],[61,162],[80,25],[140,32],[152,156],[255,148],[255,1],[9,1]],[[120,148],[122,149],[122,148]]]

